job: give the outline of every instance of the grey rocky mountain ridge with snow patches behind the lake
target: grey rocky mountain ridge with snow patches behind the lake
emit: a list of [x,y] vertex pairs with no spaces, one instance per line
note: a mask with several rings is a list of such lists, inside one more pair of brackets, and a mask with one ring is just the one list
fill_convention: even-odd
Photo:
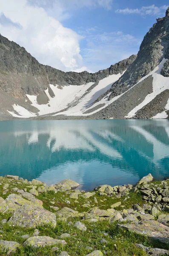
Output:
[[40,64],[0,35],[0,119],[169,118],[169,8],[137,55],[97,73]]

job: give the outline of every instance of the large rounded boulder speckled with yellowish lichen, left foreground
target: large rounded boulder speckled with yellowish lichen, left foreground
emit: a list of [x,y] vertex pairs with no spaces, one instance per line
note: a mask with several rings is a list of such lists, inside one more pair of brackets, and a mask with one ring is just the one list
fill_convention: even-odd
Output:
[[14,212],[8,223],[20,227],[36,227],[45,224],[55,227],[56,215],[40,207],[23,205]]

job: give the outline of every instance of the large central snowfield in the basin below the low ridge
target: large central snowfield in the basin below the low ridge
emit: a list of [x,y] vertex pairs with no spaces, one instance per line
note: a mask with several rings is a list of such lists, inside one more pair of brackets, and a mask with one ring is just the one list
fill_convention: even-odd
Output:
[[[53,91],[55,96],[51,97],[49,94],[49,88],[47,88],[47,90],[45,90],[46,96],[49,98],[49,102],[47,104],[38,104],[37,96],[28,94],[26,94],[26,96],[29,101],[32,102],[31,105],[39,110],[38,116],[56,113],[63,111],[66,108],[68,108],[68,110],[64,111],[63,114],[73,116],[83,115],[83,112],[86,111],[99,96],[106,93],[112,84],[122,75],[123,74],[119,73],[117,75],[106,77],[100,80],[94,88],[91,88],[91,90],[90,87],[95,84],[93,82],[83,85],[69,85],[63,87],[60,85],[54,86],[53,84],[50,84],[50,89]],[[8,112],[14,117],[29,118],[37,116],[36,113],[28,111],[20,105],[14,104],[13,108],[14,111]]]

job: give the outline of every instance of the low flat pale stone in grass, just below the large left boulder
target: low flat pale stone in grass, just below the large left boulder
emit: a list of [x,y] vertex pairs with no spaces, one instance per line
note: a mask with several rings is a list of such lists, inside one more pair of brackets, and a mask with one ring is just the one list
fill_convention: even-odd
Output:
[[33,236],[33,237],[30,237],[29,239],[27,239],[23,243],[23,246],[31,246],[31,247],[36,248],[36,247],[42,247],[42,246],[47,246],[47,245],[50,246],[53,244],[65,245],[67,243],[64,240],[54,239],[49,236]]

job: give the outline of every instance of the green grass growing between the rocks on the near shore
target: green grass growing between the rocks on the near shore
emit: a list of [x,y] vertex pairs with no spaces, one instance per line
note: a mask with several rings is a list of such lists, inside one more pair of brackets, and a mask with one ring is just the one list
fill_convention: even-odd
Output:
[[[6,178],[0,178],[0,197],[6,198],[13,192],[12,188],[17,187],[18,189],[26,188],[27,191],[30,184],[23,183],[22,181],[17,180],[7,180]],[[6,194],[3,194],[4,183],[9,183],[9,191]],[[40,185],[37,186],[37,188]],[[20,195],[20,194],[19,194]],[[97,198],[98,204],[95,203],[93,197]],[[84,199],[79,196],[78,203],[74,202],[74,199],[69,198],[67,192],[57,192],[49,191],[44,192],[36,196],[39,200],[43,201],[43,207],[47,210],[53,211],[49,206],[59,207],[69,207],[76,209],[78,212],[89,212],[90,208],[82,207],[83,204],[86,204],[90,201],[91,206],[95,206],[100,209],[110,209],[110,206],[118,201],[122,202],[122,207],[117,207],[117,210],[129,209],[132,208],[132,204],[139,203],[142,206],[145,201],[142,200],[140,192],[130,192],[129,198],[126,201],[123,201],[124,198],[114,198],[108,196],[99,196],[98,192],[92,198]],[[106,199],[106,200],[105,200]],[[65,201],[69,200],[70,204],[67,204]],[[49,202],[53,201],[54,204]],[[54,212],[54,211],[53,211]],[[6,212],[5,214],[0,213],[0,221],[3,218],[7,220],[11,217],[11,213]],[[148,247],[163,247],[162,244],[153,243],[145,236],[137,235],[135,233],[129,232],[127,230],[122,230],[117,227],[117,223],[110,223],[109,221],[98,221],[96,223],[89,223],[83,221],[80,217],[69,218],[68,221],[72,221],[74,224],[75,221],[81,221],[87,227],[87,231],[80,231],[74,227],[74,225],[68,225],[68,222],[57,221],[55,228],[50,226],[37,227],[40,231],[39,236],[50,236],[54,239],[59,239],[59,236],[63,233],[69,233],[70,237],[64,238],[67,242],[65,246],[56,245],[59,248],[58,252],[52,252],[52,247],[42,247],[42,248],[32,248],[32,247],[20,247],[16,253],[13,253],[12,256],[52,256],[59,255],[62,251],[67,251],[70,256],[86,256],[88,253],[91,253],[94,250],[100,250],[106,256],[146,256],[146,253],[143,250],[140,250],[135,246],[136,243],[141,243]],[[0,224],[0,230],[3,233],[0,233],[0,239],[7,241],[16,241],[22,244],[26,239],[21,238],[22,235],[33,236],[34,229],[32,228],[23,228],[6,224]],[[106,234],[105,234],[106,233]],[[105,239],[106,243],[101,243],[100,239]],[[92,250],[87,249],[86,247],[92,247]],[[169,248],[166,248],[169,249]],[[4,256],[6,253],[0,252],[0,255]]]

